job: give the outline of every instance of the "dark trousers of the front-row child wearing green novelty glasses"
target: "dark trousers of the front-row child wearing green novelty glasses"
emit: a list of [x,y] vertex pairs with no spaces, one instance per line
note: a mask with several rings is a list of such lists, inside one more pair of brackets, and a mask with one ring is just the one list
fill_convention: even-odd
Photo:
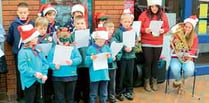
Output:
[[74,91],[76,81],[53,81],[55,103],[75,103]]

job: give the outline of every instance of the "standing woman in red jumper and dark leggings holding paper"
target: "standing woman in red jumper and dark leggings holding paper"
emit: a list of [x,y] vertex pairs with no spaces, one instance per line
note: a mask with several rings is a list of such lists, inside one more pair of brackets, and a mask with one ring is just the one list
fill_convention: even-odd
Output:
[[[147,0],[148,10],[141,13],[138,20],[142,22],[141,25],[141,43],[142,51],[145,58],[144,64],[144,89],[148,92],[151,90],[157,91],[157,63],[160,58],[163,45],[163,35],[169,30],[169,24],[166,14],[162,11],[162,0]],[[162,21],[163,24],[156,36],[151,31],[151,21]],[[151,82],[150,82],[151,80]],[[150,87],[150,84],[151,87]],[[151,89],[152,88],[152,89]]]

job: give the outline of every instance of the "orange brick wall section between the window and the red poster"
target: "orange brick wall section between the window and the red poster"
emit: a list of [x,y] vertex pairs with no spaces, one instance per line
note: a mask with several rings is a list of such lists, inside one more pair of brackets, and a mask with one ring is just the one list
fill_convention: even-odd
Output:
[[93,10],[94,12],[104,12],[111,17],[115,27],[119,26],[120,16],[124,9],[125,0],[95,0]]

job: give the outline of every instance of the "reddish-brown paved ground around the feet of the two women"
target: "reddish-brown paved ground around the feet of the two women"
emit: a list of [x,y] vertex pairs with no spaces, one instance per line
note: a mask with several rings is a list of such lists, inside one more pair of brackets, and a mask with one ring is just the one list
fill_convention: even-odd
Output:
[[[178,95],[177,90],[172,87],[170,80],[168,94],[165,94],[165,83],[159,84],[159,91],[146,92],[143,87],[134,89],[135,99],[125,100],[119,103],[209,103],[209,76],[198,76],[195,89],[195,97],[192,97],[193,78],[188,79],[186,93]],[[200,99],[199,99],[200,98]],[[1,100],[0,103],[16,103],[15,101]]]

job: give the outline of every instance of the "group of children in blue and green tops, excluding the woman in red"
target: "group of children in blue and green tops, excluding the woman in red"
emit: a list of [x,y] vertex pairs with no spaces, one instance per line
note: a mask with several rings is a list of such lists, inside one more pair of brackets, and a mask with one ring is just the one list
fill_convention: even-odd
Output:
[[[109,17],[101,13],[97,18],[97,28],[86,38],[89,39],[89,46],[77,48],[75,31],[88,29],[85,10],[81,4],[74,5],[72,19],[61,27],[55,21],[57,11],[52,5],[43,5],[34,23],[28,17],[28,4],[18,4],[18,17],[10,25],[7,36],[7,42],[13,46],[17,66],[17,99],[24,96],[26,103],[41,102],[45,96],[44,88],[48,89],[47,92],[53,91],[52,98],[56,103],[79,103],[80,99],[96,103],[97,97],[100,103],[107,100],[117,103],[116,97],[121,101],[124,97],[133,100],[134,49],[123,46],[116,57],[112,56],[110,49],[112,42],[123,42],[124,31],[132,30],[132,14],[122,14],[121,26],[114,33],[113,22],[107,21]],[[44,43],[52,43],[48,55],[38,45]],[[53,62],[56,45],[73,48],[66,65]],[[102,53],[105,53],[108,67],[96,70],[94,62]],[[118,69],[118,88],[115,90],[118,66],[121,69]],[[53,90],[46,87],[50,80]],[[43,87],[44,83],[46,86]]]

